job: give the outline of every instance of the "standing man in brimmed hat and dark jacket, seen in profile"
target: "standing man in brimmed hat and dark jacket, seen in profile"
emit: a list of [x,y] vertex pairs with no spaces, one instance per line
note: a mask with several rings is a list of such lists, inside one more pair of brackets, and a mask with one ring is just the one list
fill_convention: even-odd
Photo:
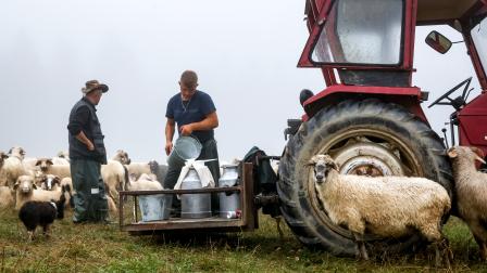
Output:
[[70,114],[71,177],[76,191],[73,196],[74,223],[102,222],[108,219],[108,203],[100,173],[101,165],[107,164],[107,152],[95,107],[108,90],[109,87],[98,80],[87,81],[82,89],[84,96]]

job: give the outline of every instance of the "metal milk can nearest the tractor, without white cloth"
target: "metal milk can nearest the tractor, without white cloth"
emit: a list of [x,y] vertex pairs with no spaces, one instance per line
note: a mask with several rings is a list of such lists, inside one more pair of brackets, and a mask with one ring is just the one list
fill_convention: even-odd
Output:
[[[224,165],[222,166],[223,174],[218,180],[220,187],[228,187],[238,185],[238,166]],[[223,192],[218,194],[220,197],[220,217],[221,218],[237,218],[237,211],[240,210],[240,193],[239,192]]]

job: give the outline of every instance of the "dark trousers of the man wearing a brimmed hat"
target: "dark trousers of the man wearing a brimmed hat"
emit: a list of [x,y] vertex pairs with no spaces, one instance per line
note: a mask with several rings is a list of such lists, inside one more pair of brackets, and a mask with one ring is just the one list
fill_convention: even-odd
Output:
[[76,193],[73,195],[73,222],[105,221],[108,203],[101,179],[101,164],[90,159],[72,159],[71,177]]

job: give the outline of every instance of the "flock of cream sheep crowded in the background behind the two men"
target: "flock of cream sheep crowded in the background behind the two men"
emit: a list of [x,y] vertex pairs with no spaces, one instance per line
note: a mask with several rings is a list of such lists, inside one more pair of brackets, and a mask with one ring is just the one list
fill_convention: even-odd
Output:
[[[29,158],[25,154],[18,146],[8,154],[0,152],[0,208],[20,210],[30,200],[58,202],[61,197],[65,198],[66,208],[72,207],[74,188],[67,154],[60,152],[52,158]],[[157,161],[130,162],[126,152],[117,151],[101,167],[110,213],[117,213],[118,191],[162,190],[159,181],[166,170]]]

